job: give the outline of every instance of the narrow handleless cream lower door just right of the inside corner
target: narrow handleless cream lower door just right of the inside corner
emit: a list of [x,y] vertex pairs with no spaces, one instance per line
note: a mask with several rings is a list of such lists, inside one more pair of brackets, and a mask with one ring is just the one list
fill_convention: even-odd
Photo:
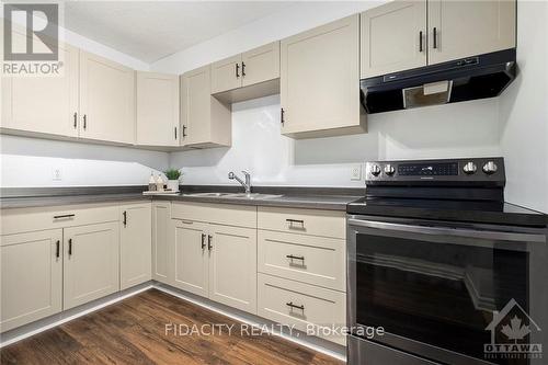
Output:
[[152,202],[152,278],[170,284],[172,275],[169,254],[171,203]]

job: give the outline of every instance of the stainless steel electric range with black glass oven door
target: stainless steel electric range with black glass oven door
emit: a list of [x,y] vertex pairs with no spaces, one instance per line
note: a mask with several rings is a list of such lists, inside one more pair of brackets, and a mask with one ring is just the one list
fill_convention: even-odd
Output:
[[548,362],[547,217],[504,203],[502,158],[369,162],[366,184],[347,205],[349,364]]

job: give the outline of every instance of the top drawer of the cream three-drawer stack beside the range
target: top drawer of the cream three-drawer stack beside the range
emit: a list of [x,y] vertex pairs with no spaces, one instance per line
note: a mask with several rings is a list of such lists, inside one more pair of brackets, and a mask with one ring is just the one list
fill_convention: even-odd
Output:
[[283,232],[345,239],[344,212],[259,207],[258,227]]

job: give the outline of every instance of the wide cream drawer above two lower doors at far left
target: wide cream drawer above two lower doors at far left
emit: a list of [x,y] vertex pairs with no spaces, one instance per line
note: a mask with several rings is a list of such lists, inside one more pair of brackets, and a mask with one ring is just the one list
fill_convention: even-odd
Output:
[[87,204],[2,209],[2,235],[118,220],[118,206]]

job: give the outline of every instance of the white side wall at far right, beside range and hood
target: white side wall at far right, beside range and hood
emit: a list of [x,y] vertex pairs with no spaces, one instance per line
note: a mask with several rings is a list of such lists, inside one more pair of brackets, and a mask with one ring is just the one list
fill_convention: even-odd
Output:
[[548,213],[548,3],[518,1],[516,80],[501,96],[506,201]]

